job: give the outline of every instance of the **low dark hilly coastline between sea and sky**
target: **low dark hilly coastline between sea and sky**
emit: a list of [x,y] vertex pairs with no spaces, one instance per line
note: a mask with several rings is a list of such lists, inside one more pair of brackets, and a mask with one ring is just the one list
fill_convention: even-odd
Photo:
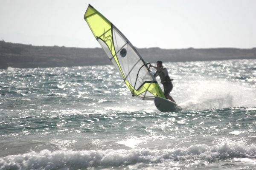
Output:
[[[138,48],[146,62],[256,59],[256,48]],[[102,48],[33,46],[0,41],[0,69],[111,64]]]

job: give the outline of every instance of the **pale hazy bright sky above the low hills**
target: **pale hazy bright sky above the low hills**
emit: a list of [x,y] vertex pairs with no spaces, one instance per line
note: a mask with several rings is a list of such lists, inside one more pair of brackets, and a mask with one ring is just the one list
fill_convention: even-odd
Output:
[[256,0],[0,0],[0,40],[100,47],[88,4],[138,48],[256,47]]

